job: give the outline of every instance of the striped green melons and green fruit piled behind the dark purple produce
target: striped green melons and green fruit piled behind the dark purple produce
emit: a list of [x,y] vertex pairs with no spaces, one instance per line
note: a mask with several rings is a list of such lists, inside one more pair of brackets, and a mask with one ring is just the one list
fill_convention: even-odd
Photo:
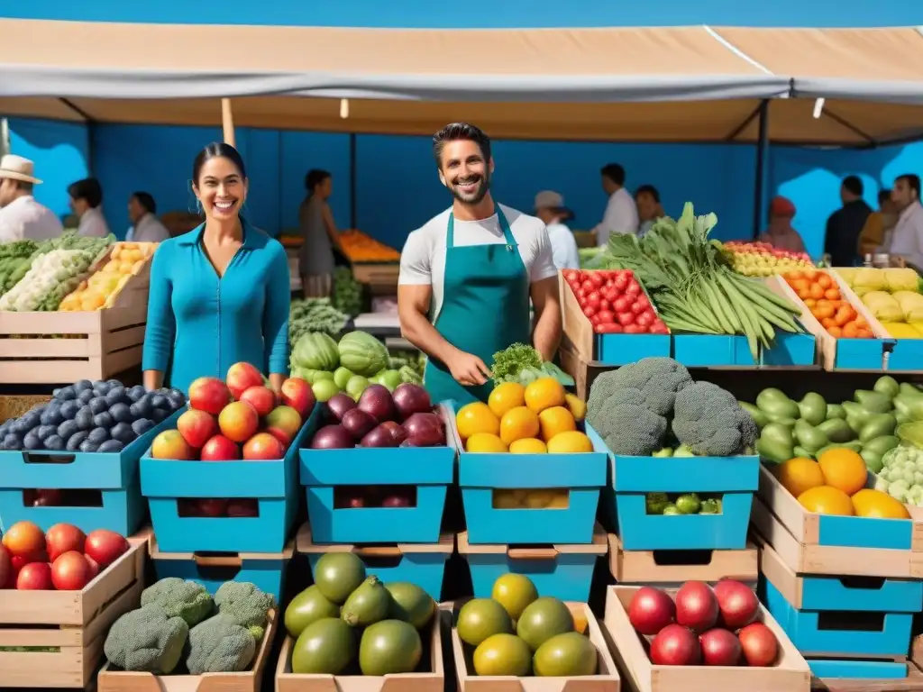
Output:
[[404,382],[423,382],[409,364],[392,364],[385,344],[364,331],[344,334],[339,343],[328,334],[306,332],[289,360],[292,376],[309,382],[318,401],[341,392],[358,400],[369,385],[394,389]]

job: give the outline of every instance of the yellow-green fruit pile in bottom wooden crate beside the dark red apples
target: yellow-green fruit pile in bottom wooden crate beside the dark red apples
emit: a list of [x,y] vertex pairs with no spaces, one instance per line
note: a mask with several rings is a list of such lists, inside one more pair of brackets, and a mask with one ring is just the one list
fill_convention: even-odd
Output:
[[476,675],[594,675],[599,651],[585,619],[574,615],[557,598],[540,598],[528,577],[509,573],[494,582],[490,598],[462,605],[455,632],[473,647]]

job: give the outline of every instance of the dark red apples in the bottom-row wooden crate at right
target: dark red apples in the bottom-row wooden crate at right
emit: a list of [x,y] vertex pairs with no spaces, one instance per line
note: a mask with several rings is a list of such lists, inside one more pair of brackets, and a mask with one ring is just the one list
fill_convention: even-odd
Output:
[[714,589],[687,581],[672,597],[644,586],[628,608],[631,626],[650,644],[654,665],[771,666],[779,642],[759,614],[756,594],[733,579],[722,579]]

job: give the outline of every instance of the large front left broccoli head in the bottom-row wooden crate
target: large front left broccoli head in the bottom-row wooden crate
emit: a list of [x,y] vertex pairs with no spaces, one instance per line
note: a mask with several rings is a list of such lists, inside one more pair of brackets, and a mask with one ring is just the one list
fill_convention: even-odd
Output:
[[124,671],[165,675],[179,664],[188,635],[186,620],[148,605],[117,619],[102,650],[110,663]]

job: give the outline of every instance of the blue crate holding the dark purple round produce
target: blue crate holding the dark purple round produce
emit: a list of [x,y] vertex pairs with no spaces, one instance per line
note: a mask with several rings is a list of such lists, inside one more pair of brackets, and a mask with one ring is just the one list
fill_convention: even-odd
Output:
[[[440,411],[449,425],[448,413]],[[306,440],[319,426],[313,421]],[[317,543],[438,543],[455,447],[302,449],[301,483]],[[337,486],[413,485],[414,507],[337,508]]]

